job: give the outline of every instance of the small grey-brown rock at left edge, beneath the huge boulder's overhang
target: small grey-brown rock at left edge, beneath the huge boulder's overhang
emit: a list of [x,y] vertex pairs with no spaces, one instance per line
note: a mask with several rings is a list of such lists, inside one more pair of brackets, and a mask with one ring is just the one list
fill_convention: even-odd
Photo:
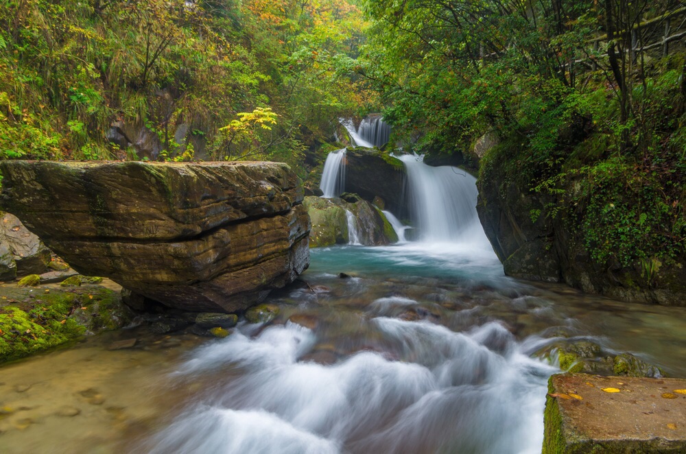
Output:
[[0,280],[41,274],[50,263],[50,250],[10,213],[0,213]]

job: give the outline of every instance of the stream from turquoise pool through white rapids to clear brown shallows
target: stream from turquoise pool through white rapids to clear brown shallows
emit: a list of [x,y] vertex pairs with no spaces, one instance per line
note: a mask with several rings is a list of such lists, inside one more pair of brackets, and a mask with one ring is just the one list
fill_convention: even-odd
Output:
[[312,250],[268,326],[120,331],[0,368],[1,451],[537,453],[553,342],[686,377],[686,310],[513,280],[480,245]]

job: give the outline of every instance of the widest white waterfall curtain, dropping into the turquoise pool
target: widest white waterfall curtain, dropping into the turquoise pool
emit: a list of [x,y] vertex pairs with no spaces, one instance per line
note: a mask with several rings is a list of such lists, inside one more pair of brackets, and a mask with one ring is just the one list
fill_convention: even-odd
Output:
[[476,178],[456,167],[430,167],[423,158],[399,156],[407,170],[408,206],[418,238],[488,244],[476,212]]

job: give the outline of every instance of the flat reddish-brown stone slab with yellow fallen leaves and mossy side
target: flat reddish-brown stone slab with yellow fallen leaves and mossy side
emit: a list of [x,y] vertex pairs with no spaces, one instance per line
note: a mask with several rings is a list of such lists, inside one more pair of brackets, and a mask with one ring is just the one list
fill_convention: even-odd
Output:
[[558,374],[543,454],[686,453],[686,380]]

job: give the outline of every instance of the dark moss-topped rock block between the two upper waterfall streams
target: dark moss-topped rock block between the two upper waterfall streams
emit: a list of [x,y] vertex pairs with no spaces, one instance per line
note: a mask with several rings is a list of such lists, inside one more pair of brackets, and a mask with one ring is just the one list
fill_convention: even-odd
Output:
[[401,160],[371,148],[348,148],[346,191],[370,202],[378,196],[386,202],[386,209],[401,213],[404,184],[405,167]]

